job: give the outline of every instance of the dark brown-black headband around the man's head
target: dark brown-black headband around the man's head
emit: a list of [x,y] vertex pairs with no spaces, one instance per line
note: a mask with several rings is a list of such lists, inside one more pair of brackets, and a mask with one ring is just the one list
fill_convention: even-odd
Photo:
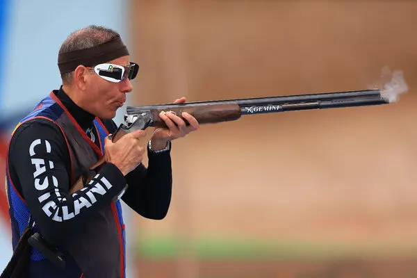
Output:
[[65,74],[72,72],[79,65],[92,67],[127,55],[129,51],[126,45],[120,37],[117,37],[95,47],[58,54],[59,72]]

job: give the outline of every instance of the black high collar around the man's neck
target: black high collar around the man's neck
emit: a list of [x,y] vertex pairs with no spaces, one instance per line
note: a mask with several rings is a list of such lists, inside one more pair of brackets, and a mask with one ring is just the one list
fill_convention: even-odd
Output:
[[95,119],[95,115],[88,113],[83,108],[76,105],[67,93],[64,92],[62,85],[60,86],[58,92],[56,92],[56,97],[58,97],[65,108],[67,108],[68,112],[70,112],[72,117],[74,117],[76,122],[81,126],[81,129],[85,131],[92,126],[92,121]]

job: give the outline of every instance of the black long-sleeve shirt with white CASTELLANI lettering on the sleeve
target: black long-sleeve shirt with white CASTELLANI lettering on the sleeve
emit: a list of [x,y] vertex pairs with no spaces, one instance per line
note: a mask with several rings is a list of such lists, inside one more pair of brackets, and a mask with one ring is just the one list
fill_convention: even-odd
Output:
[[[76,106],[62,88],[57,97],[98,145],[99,138],[92,122],[94,115]],[[113,120],[103,122],[110,133],[117,129]],[[34,145],[33,142],[39,144]],[[50,243],[60,245],[68,237],[78,234],[101,207],[110,204],[126,183],[129,187],[122,200],[130,208],[145,218],[165,218],[172,193],[170,151],[155,154],[147,150],[148,167],[140,164],[126,177],[112,163],[106,163],[101,168],[100,177],[113,185],[105,194],[97,194],[97,188],[91,186],[69,194],[71,161],[65,138],[56,124],[29,121],[17,129],[10,141],[10,177],[25,199],[42,236]],[[86,206],[83,197],[92,202]],[[62,221],[63,218],[66,218],[65,221]]]

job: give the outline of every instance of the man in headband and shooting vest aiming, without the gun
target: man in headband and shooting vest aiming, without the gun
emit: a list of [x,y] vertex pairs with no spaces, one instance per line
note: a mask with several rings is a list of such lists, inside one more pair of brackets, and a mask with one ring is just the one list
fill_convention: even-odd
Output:
[[[64,254],[66,267],[57,268],[34,249],[27,277],[125,277],[120,198],[142,217],[165,218],[171,141],[199,124],[183,113],[186,125],[167,111],[160,115],[167,128],[155,129],[149,143],[140,139],[145,131],[116,142],[108,138],[117,129],[111,119],[132,90],[129,79],[138,72],[111,29],[88,26],[72,33],[60,47],[58,67],[63,85],[19,122],[10,140],[6,186],[13,248],[30,217],[34,230]],[[102,157],[106,163],[90,170]],[[74,187],[78,180],[85,181],[81,189]]]

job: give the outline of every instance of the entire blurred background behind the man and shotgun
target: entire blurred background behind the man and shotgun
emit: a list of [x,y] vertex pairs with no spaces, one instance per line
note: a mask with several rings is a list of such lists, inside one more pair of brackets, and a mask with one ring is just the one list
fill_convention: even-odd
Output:
[[[60,85],[60,44],[88,24],[119,31],[140,65],[127,105],[363,90],[389,67],[409,86],[397,103],[246,116],[175,141],[167,217],[124,209],[128,277],[417,277],[416,13],[414,1],[0,0],[1,169],[19,118]],[[3,268],[3,191],[0,208]]]

